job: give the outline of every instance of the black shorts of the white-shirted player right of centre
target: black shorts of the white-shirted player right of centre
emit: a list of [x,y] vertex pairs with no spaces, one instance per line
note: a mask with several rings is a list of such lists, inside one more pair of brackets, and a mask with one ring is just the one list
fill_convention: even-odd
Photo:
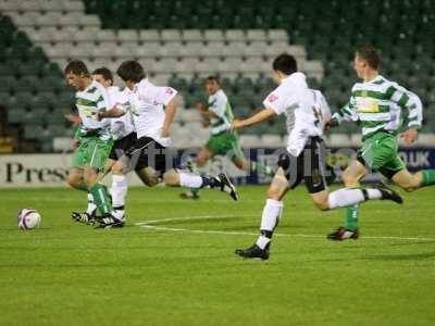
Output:
[[295,189],[302,180],[310,193],[325,190],[335,175],[326,165],[326,145],[320,137],[311,137],[299,156],[290,153],[279,155],[278,166],[286,174],[290,189]]

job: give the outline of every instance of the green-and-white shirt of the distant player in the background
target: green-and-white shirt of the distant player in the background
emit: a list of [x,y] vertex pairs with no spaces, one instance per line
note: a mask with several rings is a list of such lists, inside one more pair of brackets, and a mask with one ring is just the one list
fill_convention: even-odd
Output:
[[231,129],[234,120],[233,109],[228,98],[222,89],[209,97],[208,110],[213,112],[217,117],[211,117],[211,134],[217,135]]

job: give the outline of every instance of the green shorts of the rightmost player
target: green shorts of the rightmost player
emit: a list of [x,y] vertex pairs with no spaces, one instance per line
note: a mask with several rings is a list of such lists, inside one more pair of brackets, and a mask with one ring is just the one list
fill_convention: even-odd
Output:
[[398,154],[396,136],[387,133],[377,133],[366,139],[357,160],[389,179],[406,167]]

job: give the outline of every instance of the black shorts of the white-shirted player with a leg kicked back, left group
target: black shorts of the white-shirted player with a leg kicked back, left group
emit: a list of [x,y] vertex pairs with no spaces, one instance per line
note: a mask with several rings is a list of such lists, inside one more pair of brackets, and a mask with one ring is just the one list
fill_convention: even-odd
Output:
[[[172,168],[171,152],[150,137],[140,137],[134,148],[126,154],[128,162],[124,164],[129,171],[140,171],[144,167],[152,167],[163,173]],[[166,165],[166,162],[169,165]]]

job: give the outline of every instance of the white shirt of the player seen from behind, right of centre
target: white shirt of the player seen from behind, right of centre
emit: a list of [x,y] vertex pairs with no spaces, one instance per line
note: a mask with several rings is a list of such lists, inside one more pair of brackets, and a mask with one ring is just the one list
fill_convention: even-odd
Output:
[[287,123],[287,150],[298,156],[310,137],[322,137],[331,117],[330,106],[319,90],[308,88],[306,76],[294,73],[263,101],[276,114],[285,114]]

